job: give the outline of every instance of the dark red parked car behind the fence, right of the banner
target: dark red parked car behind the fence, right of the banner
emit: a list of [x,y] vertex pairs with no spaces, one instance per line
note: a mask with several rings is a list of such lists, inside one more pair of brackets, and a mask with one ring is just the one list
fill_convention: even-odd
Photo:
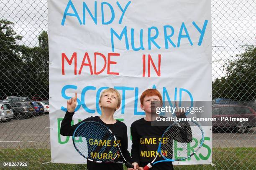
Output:
[[[248,106],[243,105],[213,105],[212,117],[216,117],[217,121],[212,122],[214,130],[235,129],[238,133],[244,133],[248,128],[256,126],[256,112]],[[227,117],[221,120],[221,117]],[[231,117],[233,120],[231,120]],[[243,119],[244,118],[244,119]],[[248,121],[239,121],[239,120]],[[238,121],[237,121],[238,120]]]

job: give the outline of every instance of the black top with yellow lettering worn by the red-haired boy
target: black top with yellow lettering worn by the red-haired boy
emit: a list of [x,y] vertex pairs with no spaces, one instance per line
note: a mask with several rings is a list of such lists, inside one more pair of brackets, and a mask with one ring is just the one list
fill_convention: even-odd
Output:
[[[179,117],[186,117],[185,115],[181,115]],[[159,146],[159,142],[165,130],[169,126],[152,126],[154,122],[146,121],[144,118],[136,120],[131,125],[131,136],[132,136],[132,149],[131,155],[133,162],[139,164],[139,166],[144,167],[148,163],[151,163],[152,160],[156,157],[157,149]],[[170,122],[174,123],[174,122]],[[177,128],[177,127],[176,127]],[[179,130],[186,130],[183,127],[179,128]],[[191,133],[191,132],[190,132]],[[163,142],[166,141],[163,139]],[[162,150],[164,154],[172,154],[168,153],[167,150]],[[155,162],[158,160],[163,160],[161,155],[156,158]],[[172,162],[160,162],[155,165],[150,170],[173,170]]]

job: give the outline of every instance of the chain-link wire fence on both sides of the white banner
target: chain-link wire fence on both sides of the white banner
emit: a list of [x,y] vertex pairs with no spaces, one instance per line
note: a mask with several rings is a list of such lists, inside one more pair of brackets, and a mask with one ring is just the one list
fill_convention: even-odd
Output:
[[[239,114],[252,116],[256,109],[256,3],[211,2],[213,115],[228,114],[227,110],[238,112],[239,107]],[[0,168],[7,168],[3,163],[23,163],[9,168],[86,169],[85,165],[49,163],[49,104],[35,104],[37,111],[29,112],[31,103],[26,97],[49,100],[47,29],[47,0],[0,0],[0,100],[23,97],[7,99],[10,106],[0,101]],[[10,107],[15,119],[4,121],[12,114]],[[214,127],[214,165],[175,169],[255,169],[256,128],[244,124],[232,128],[218,124]]]

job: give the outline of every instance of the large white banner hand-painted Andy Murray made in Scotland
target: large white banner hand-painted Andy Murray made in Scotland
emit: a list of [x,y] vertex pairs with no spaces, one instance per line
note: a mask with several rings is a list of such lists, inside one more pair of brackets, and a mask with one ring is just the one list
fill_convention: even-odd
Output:
[[[100,115],[100,92],[122,97],[114,118],[128,127],[144,116],[141,93],[158,89],[163,100],[211,101],[209,0],[49,0],[49,96],[53,163],[86,163],[59,134],[67,100],[78,94],[74,124]],[[211,117],[211,110],[207,112]],[[209,164],[212,132],[182,164]],[[128,141],[131,150],[131,140]]]

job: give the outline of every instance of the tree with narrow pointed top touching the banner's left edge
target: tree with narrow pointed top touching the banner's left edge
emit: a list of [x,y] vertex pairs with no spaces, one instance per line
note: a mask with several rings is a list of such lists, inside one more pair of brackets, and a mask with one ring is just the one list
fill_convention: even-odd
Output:
[[22,47],[22,59],[26,65],[27,81],[24,83],[29,96],[49,99],[49,47],[48,33],[41,32],[38,36],[38,47]]

